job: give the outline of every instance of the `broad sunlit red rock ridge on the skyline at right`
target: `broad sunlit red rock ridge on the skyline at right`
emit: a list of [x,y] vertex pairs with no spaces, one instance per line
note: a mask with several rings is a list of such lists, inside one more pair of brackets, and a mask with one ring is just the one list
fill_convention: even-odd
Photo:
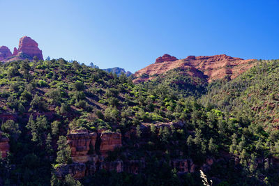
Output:
[[[165,56],[165,55],[164,55]],[[252,66],[256,65],[255,59],[240,59],[227,56],[225,54],[216,56],[188,56],[186,59],[174,60],[169,56],[162,56],[156,59],[156,63],[148,65],[146,68],[135,72],[134,80],[137,82],[144,82],[155,78],[155,75],[161,75],[168,70],[174,68],[191,67],[200,70],[207,77],[208,82],[215,79],[222,79],[228,77],[234,79],[241,75]],[[164,58],[163,58],[164,57]],[[195,71],[195,70],[192,70]]]

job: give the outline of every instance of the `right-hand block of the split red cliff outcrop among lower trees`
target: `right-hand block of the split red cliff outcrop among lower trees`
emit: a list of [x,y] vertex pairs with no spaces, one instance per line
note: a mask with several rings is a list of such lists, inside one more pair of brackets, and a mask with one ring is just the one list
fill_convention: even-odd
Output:
[[122,146],[121,133],[118,132],[103,132],[100,140],[100,154],[103,156],[107,156],[108,151]]

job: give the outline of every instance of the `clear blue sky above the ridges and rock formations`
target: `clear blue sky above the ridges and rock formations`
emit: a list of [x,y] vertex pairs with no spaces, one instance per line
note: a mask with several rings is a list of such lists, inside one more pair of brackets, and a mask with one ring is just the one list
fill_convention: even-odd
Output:
[[22,36],[43,56],[140,70],[158,56],[279,59],[279,0],[0,0],[0,45]]

